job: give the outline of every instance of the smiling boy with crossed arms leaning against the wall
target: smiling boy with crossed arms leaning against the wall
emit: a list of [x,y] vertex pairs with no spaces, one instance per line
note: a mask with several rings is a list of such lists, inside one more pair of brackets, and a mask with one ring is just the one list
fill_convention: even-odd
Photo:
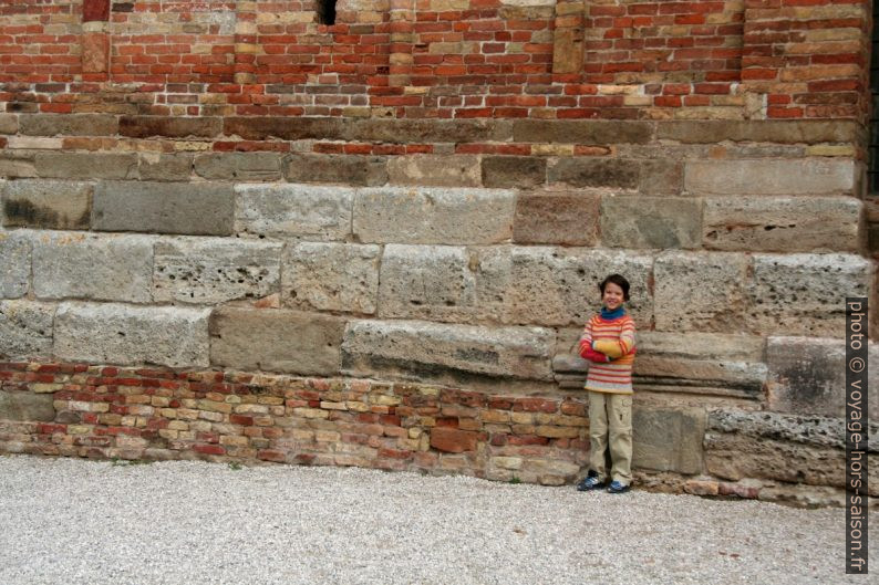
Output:
[[589,391],[589,472],[580,491],[604,488],[604,451],[610,448],[610,493],[629,491],[632,483],[632,364],[634,321],[625,314],[629,281],[611,274],[599,284],[601,312],[586,324],[580,355],[591,362],[586,378]]

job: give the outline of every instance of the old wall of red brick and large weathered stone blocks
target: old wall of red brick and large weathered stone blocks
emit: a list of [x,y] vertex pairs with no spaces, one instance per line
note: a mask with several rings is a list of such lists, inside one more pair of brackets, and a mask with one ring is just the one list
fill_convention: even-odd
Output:
[[0,7],[0,452],[571,482],[621,272],[639,483],[840,501],[866,2],[227,4]]

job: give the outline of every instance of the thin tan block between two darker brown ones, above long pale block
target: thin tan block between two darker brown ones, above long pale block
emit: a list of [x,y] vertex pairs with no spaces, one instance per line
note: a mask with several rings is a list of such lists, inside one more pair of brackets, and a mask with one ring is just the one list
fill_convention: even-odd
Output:
[[478,187],[482,185],[479,157],[470,155],[397,156],[387,161],[392,185],[431,187]]

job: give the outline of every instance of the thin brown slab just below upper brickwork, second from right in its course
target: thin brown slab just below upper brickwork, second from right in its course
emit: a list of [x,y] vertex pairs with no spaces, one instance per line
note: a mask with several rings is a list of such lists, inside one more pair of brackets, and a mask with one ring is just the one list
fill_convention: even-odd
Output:
[[513,139],[517,143],[647,144],[652,135],[652,123],[622,119],[517,119],[513,124]]

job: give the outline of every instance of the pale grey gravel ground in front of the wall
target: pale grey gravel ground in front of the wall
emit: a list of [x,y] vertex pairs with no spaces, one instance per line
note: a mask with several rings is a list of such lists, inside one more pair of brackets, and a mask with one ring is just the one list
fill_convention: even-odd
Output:
[[361,469],[0,457],[0,529],[2,585],[879,583],[839,509]]

